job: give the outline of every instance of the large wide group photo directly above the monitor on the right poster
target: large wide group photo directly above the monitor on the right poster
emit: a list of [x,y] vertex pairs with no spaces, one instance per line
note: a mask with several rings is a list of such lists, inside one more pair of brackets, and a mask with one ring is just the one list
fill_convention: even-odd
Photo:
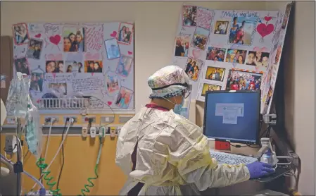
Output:
[[244,71],[229,71],[226,90],[259,90],[262,74]]

